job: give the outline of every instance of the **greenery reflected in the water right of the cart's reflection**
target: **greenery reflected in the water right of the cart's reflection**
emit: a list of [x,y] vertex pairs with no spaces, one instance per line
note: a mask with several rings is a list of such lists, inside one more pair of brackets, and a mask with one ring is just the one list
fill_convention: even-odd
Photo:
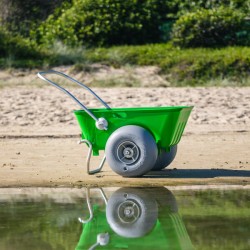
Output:
[[249,190],[193,191],[176,198],[196,249],[249,249]]

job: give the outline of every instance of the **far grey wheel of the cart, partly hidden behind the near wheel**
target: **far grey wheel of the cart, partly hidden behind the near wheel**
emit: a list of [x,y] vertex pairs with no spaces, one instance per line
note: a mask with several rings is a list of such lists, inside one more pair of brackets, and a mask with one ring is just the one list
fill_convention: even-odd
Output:
[[166,151],[160,152],[160,154],[157,157],[156,163],[152,168],[152,171],[161,170],[170,165],[171,162],[174,160],[176,153],[177,153],[177,145],[172,146],[169,152]]

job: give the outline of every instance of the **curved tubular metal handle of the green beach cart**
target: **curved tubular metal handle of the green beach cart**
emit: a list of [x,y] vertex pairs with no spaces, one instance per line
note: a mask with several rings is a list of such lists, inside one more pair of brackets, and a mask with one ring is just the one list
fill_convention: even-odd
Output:
[[46,78],[44,75],[48,75],[48,74],[55,74],[55,75],[59,75],[59,76],[62,76],[74,83],[77,83],[79,86],[83,87],[84,89],[86,89],[87,91],[89,91],[99,102],[101,102],[104,107],[106,107],[107,109],[111,109],[107,103],[105,103],[94,91],[92,91],[89,87],[87,87],[85,84],[73,79],[72,77],[64,74],[64,73],[61,73],[61,72],[58,72],[58,71],[55,71],[55,70],[49,70],[49,71],[44,71],[44,72],[39,72],[37,73],[37,76],[42,79],[43,81],[46,81],[48,82],[49,84],[53,85],[54,87],[56,87],[57,89],[61,90],[62,92],[64,92],[66,95],[68,95],[71,99],[73,99],[81,108],[83,108],[83,110],[88,113],[96,122],[99,121],[99,119],[97,117],[95,117],[92,112],[90,112],[90,110],[88,110],[88,108],[83,105],[74,95],[72,95],[68,90],[66,90],[65,88],[59,86],[57,83],[49,80],[48,78]]

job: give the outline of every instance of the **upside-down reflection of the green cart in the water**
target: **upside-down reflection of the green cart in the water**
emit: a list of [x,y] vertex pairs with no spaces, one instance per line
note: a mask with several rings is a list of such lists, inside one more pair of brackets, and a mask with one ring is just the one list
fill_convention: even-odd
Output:
[[[178,213],[174,195],[166,188],[120,188],[103,204],[91,204],[86,191],[89,218],[79,218],[82,249],[193,249]],[[98,204],[97,204],[98,203]]]

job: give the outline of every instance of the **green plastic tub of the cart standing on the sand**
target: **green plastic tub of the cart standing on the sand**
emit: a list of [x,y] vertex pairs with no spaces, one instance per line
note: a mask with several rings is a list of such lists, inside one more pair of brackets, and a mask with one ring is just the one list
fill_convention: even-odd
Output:
[[90,109],[96,117],[108,121],[108,130],[99,130],[95,121],[83,110],[75,111],[82,131],[82,139],[91,142],[94,155],[104,150],[109,136],[118,128],[137,125],[148,130],[154,137],[158,148],[169,151],[170,146],[178,144],[192,107],[139,107]]

